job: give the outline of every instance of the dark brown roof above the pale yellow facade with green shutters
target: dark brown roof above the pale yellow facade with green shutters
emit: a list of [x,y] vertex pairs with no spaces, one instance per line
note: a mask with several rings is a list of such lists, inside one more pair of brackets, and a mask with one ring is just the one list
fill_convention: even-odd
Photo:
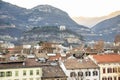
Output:
[[0,63],[0,69],[7,68],[24,68],[24,67],[41,67],[45,65],[50,65],[50,63],[40,63],[35,61],[35,59],[26,59],[24,61],[9,61],[6,63]]

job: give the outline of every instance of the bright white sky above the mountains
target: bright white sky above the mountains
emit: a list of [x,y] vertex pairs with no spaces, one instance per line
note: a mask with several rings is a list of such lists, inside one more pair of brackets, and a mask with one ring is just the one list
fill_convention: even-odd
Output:
[[100,17],[120,10],[120,0],[3,0],[27,9],[52,5],[71,17]]

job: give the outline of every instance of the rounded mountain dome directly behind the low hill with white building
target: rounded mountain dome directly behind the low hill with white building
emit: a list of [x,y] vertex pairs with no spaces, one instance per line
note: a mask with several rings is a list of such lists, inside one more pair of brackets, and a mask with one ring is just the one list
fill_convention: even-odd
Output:
[[71,30],[79,30],[79,32],[82,31],[82,28],[88,29],[87,27],[78,25],[66,12],[50,5],[36,6],[29,11],[28,15],[30,16],[28,18],[29,25],[35,27],[64,25]]

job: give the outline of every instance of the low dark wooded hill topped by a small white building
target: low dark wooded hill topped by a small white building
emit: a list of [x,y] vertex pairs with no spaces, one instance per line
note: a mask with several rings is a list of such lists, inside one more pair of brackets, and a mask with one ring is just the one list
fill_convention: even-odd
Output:
[[[29,37],[28,37],[29,36]],[[22,41],[50,41],[57,43],[66,42],[67,38],[74,38],[79,40],[77,44],[80,43],[80,40],[83,40],[82,36],[73,32],[70,29],[66,29],[65,27],[58,26],[42,26],[42,27],[34,27],[33,29],[24,33]]]

